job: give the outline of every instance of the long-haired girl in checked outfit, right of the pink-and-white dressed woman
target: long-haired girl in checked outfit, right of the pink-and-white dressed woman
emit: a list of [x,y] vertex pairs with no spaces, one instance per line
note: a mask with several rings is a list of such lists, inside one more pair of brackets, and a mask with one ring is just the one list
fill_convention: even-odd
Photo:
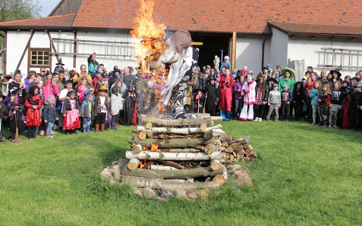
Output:
[[268,102],[268,95],[265,95],[266,90],[266,79],[260,77],[257,85],[255,86],[255,104],[254,104],[254,115],[255,121],[261,122],[264,116],[265,104]]

